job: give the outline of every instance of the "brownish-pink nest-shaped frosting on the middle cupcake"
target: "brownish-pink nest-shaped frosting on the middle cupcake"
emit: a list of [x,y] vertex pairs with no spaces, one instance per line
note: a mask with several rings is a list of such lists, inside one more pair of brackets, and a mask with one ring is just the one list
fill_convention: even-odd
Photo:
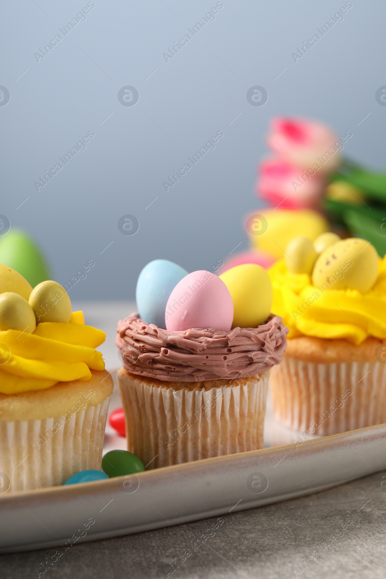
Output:
[[119,321],[115,343],[128,372],[157,380],[201,382],[252,376],[279,364],[288,331],[282,318],[273,314],[258,328],[170,332],[133,313]]

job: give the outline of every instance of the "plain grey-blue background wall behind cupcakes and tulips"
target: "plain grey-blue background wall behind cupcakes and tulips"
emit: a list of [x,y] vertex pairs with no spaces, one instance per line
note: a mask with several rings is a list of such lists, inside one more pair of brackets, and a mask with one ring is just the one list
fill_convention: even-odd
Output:
[[[255,167],[275,114],[351,130],[346,155],[384,166],[386,108],[375,99],[386,85],[384,2],[352,0],[296,63],[292,52],[344,1],[222,3],[195,36],[188,29],[215,0],[95,0],[67,35],[60,29],[86,1],[2,3],[0,85],[10,101],[0,107],[0,213],[41,244],[60,283],[95,261],[76,298],[133,298],[138,273],[159,256],[193,271],[240,241],[238,250],[247,248],[242,217],[258,205]],[[57,34],[38,61],[34,53]],[[186,34],[192,39],[166,61]],[[253,85],[269,94],[263,107],[247,101]],[[124,86],[138,90],[135,106],[118,100]],[[88,131],[86,149],[36,190]],[[216,131],[215,149],[166,192],[168,175]],[[126,214],[139,221],[133,236],[117,227]]]

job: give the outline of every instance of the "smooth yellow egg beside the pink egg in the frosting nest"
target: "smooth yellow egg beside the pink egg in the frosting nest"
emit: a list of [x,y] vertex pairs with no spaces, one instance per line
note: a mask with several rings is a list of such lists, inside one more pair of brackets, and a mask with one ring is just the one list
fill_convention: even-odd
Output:
[[271,312],[273,291],[266,270],[255,263],[231,267],[219,276],[233,301],[233,327],[256,328]]

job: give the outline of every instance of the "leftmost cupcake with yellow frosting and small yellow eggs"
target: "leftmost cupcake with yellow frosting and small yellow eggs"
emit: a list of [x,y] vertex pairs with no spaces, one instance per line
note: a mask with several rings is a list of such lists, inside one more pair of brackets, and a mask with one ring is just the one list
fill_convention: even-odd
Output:
[[32,290],[0,265],[0,472],[10,490],[100,468],[113,389],[95,350],[104,340],[71,313],[61,285]]

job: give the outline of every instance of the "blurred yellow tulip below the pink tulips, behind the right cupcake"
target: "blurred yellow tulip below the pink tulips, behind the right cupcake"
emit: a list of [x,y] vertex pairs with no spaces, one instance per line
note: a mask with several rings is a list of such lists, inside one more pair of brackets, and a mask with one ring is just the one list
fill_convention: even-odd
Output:
[[326,219],[311,209],[262,208],[256,211],[256,216],[259,213],[266,219],[266,226],[255,230],[253,226],[248,228],[247,225],[251,245],[269,252],[278,259],[284,257],[285,246],[295,235],[303,235],[314,241],[329,229]]

